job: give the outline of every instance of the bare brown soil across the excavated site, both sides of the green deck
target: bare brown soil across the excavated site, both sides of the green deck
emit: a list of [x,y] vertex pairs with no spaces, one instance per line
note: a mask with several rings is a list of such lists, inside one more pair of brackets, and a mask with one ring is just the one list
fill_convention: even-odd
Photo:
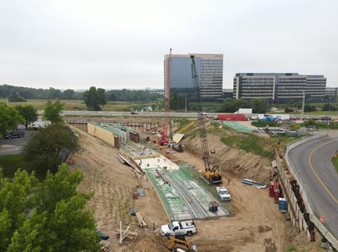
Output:
[[[75,153],[75,164],[70,167],[78,168],[84,173],[84,181],[79,190],[93,193],[88,208],[94,211],[98,228],[111,237],[110,251],[168,251],[165,239],[158,232],[153,232],[151,226],[151,223],[155,223],[155,228],[158,229],[169,221],[151,183],[138,179],[132,168],[120,164],[115,158],[117,150],[113,147],[87,133],[79,133],[80,150]],[[289,244],[296,243],[298,248],[316,251],[315,245],[308,246],[303,234],[298,234],[284,220],[277,204],[268,197],[268,190],[240,182],[242,175],[252,175],[251,178],[261,181],[270,178],[270,161],[239,150],[229,150],[226,146],[221,146],[223,143],[213,136],[209,144],[219,156],[214,161],[223,162],[222,167],[227,164],[222,173],[223,183],[232,194],[231,215],[227,218],[196,220],[198,232],[189,240],[196,243],[198,250],[275,252],[286,251]],[[197,154],[187,150],[170,154],[166,148],[160,152],[170,159],[180,159],[203,171],[203,161],[198,154],[199,142],[192,142],[192,146]],[[146,188],[146,195],[133,200],[132,192],[137,185]],[[137,226],[134,216],[129,213],[131,207],[137,208],[146,218],[148,229]],[[120,221],[124,228],[130,225],[132,231],[139,232],[137,241],[118,244],[115,230]]]

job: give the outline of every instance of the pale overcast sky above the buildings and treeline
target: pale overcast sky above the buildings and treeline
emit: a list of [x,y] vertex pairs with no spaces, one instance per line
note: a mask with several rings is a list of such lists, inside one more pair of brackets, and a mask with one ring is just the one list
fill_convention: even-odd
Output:
[[338,86],[337,0],[0,0],[0,84],[163,88],[163,55],[223,53],[236,72]]

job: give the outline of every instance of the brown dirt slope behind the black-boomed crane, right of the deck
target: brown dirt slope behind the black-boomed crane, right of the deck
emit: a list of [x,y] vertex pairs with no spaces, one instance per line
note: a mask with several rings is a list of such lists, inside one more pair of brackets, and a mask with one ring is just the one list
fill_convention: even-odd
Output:
[[[183,145],[185,150],[201,156],[199,135],[185,139]],[[211,154],[211,161],[214,165],[218,165],[221,171],[230,173],[237,178],[250,178],[262,183],[269,183],[272,171],[270,159],[227,147],[220,141],[220,135],[212,133],[208,133],[208,145],[209,150],[215,150],[215,154]]]

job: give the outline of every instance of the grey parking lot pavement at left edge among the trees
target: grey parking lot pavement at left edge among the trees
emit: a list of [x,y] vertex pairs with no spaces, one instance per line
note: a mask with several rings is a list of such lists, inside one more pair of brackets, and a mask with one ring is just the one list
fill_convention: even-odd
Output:
[[[21,130],[20,130],[21,131]],[[23,138],[1,138],[0,139],[0,156],[5,155],[13,155],[13,154],[19,154],[21,151],[21,148],[27,140],[30,138],[30,135],[35,131],[27,131],[23,130],[25,132],[25,136]]]

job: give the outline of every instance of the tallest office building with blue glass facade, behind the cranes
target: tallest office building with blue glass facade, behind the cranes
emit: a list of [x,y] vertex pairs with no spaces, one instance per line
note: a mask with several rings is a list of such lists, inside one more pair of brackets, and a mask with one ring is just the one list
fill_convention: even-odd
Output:
[[[189,95],[194,100],[195,89],[192,84],[192,60],[195,56],[195,65],[199,76],[199,87],[203,100],[215,100],[222,97],[223,91],[223,54],[173,54],[170,63],[170,93]],[[168,59],[164,56],[164,86],[168,81]]]

